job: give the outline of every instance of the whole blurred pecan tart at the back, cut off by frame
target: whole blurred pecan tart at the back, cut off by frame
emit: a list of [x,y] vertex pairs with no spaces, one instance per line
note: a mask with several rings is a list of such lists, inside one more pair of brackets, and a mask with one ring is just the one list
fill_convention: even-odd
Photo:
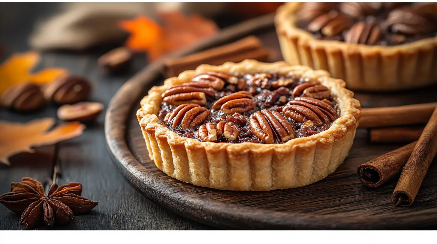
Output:
[[358,90],[437,81],[437,3],[286,3],[275,17],[284,60]]

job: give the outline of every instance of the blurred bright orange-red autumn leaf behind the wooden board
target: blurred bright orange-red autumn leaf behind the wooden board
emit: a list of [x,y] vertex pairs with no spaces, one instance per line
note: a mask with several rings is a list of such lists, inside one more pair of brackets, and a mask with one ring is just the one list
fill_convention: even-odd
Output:
[[144,51],[151,61],[163,54],[190,46],[218,32],[217,25],[198,15],[185,17],[180,12],[160,14],[163,25],[145,16],[123,20],[118,26],[131,33],[126,47],[133,51]]

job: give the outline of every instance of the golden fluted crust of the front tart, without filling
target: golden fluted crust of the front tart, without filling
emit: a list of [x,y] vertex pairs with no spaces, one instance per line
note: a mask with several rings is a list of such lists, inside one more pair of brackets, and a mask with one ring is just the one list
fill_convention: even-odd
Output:
[[[318,134],[292,139],[283,144],[252,142],[200,142],[177,135],[165,127],[157,113],[161,94],[170,86],[191,81],[205,71],[225,71],[243,75],[254,72],[289,71],[319,80],[331,89],[340,108],[340,118]],[[305,66],[289,66],[245,60],[220,66],[200,65],[154,86],[141,101],[137,112],[149,157],[167,175],[198,186],[222,190],[274,190],[305,186],[319,181],[343,163],[358,126],[360,102],[347,90],[342,80],[329,77],[326,71]]]

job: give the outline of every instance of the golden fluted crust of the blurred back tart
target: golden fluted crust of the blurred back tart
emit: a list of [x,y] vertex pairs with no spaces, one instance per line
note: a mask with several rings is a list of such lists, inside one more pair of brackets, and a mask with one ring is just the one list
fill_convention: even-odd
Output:
[[358,90],[398,90],[437,81],[437,38],[396,46],[369,46],[343,41],[317,40],[295,27],[300,3],[277,10],[275,25],[284,60],[327,70]]

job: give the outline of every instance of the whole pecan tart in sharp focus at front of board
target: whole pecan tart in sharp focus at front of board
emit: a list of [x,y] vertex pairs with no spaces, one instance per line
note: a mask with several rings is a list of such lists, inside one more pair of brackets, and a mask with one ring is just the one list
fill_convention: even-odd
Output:
[[203,64],[150,89],[137,116],[150,158],[169,176],[225,190],[292,188],[346,158],[361,113],[344,87],[285,62]]

